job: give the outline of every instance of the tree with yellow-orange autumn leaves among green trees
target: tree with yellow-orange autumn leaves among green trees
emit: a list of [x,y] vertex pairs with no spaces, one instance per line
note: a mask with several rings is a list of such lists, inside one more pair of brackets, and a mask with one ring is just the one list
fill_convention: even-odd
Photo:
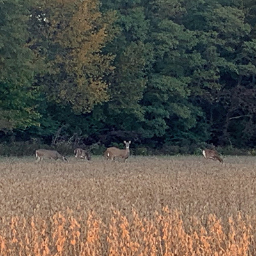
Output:
[[102,14],[94,0],[44,0],[32,13],[29,44],[48,65],[37,83],[47,99],[75,113],[108,100],[115,56],[102,48],[115,36],[115,12]]

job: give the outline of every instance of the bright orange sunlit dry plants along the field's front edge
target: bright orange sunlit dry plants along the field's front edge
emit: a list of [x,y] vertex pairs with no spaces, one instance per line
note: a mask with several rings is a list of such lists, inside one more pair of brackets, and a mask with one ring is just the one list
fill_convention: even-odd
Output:
[[253,223],[241,214],[228,219],[228,230],[215,215],[207,225],[195,216],[189,230],[178,211],[165,207],[151,218],[135,210],[132,220],[118,210],[108,224],[95,212],[76,220],[70,212],[1,221],[0,255],[255,255]]

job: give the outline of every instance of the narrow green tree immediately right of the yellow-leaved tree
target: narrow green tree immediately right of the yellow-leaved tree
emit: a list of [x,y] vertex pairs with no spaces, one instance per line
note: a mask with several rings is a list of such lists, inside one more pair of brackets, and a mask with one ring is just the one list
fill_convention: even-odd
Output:
[[150,21],[141,1],[106,1],[104,10],[115,8],[119,33],[106,51],[116,55],[115,72],[109,77],[110,99],[106,104],[106,129],[138,132],[144,111],[140,104],[152,60],[152,45],[147,44]]

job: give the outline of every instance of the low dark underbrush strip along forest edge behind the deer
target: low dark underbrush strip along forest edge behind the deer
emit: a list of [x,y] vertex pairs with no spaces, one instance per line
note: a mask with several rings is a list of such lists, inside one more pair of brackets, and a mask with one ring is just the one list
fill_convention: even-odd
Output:
[[[124,148],[123,143],[113,143],[113,146]],[[68,156],[74,154],[74,148],[81,147],[90,150],[93,155],[102,156],[106,147],[95,143],[93,145],[72,145],[65,141],[54,145],[46,145],[40,141],[15,141],[0,144],[0,156],[32,156],[38,148],[58,150],[61,154]],[[201,149],[200,149],[201,148]],[[131,154],[135,156],[177,156],[177,155],[200,155],[203,148],[212,148],[212,145],[163,145],[159,148],[150,148],[147,145],[136,145],[132,143]],[[216,150],[224,156],[255,156],[253,148],[217,147]]]

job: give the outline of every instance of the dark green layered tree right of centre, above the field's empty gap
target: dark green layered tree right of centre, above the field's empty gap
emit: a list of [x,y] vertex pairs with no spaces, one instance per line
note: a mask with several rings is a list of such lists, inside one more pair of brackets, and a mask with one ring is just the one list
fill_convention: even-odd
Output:
[[143,134],[157,141],[177,141],[196,125],[199,109],[189,102],[191,74],[200,65],[200,55],[193,51],[197,38],[179,24],[184,13],[180,1],[151,1],[147,10],[154,58],[148,74],[141,106],[145,120]]

